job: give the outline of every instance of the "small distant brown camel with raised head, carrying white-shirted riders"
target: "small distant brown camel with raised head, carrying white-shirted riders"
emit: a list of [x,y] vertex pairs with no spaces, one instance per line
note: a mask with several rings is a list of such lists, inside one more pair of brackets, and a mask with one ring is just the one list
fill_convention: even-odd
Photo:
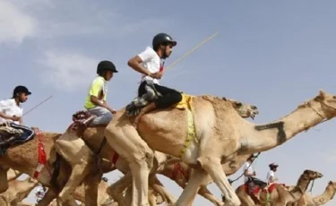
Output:
[[306,193],[306,189],[311,181],[321,178],[323,175],[319,172],[306,169],[298,178],[297,185],[290,190],[284,185],[273,184],[268,187],[268,191],[255,188],[260,195],[260,202],[254,202],[248,193],[246,193],[246,185],[240,185],[236,189],[237,196],[242,202],[242,206],[261,205],[286,205],[289,202],[297,202],[302,195]]

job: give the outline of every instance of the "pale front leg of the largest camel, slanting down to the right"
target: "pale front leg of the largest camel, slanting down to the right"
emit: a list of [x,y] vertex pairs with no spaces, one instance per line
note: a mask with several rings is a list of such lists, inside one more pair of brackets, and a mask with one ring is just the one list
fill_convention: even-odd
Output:
[[221,193],[225,196],[226,203],[228,205],[238,206],[240,205],[240,200],[237,194],[233,190],[232,186],[228,183],[228,178],[225,175],[223,168],[220,165],[219,158],[206,158],[201,157],[197,159],[202,167],[209,173],[215,184],[220,187]]

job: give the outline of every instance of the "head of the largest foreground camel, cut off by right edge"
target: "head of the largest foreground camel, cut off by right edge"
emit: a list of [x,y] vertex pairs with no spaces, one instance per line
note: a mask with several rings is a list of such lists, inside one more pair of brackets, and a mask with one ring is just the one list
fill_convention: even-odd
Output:
[[323,90],[312,100],[307,102],[309,107],[326,119],[331,119],[336,116],[336,96],[328,94]]

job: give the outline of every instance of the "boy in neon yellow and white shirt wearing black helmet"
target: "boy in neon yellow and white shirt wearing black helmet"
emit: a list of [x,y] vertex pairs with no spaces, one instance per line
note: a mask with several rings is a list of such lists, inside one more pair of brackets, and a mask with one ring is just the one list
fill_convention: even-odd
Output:
[[106,125],[111,121],[112,114],[116,114],[116,110],[108,107],[106,101],[108,94],[107,82],[113,77],[113,73],[117,73],[116,66],[110,61],[101,61],[97,66],[98,76],[90,85],[89,93],[85,100],[84,107],[91,115],[97,116],[91,123],[93,125]]

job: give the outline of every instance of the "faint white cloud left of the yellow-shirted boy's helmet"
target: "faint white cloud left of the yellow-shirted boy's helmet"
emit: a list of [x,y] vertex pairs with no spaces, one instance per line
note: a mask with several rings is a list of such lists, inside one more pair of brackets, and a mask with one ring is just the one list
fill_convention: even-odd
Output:
[[59,90],[74,91],[89,86],[99,60],[75,52],[47,51],[43,60],[41,79]]

